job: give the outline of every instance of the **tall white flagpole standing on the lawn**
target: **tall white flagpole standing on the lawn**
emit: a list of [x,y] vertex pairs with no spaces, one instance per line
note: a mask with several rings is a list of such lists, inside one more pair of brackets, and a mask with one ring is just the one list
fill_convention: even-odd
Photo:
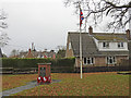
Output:
[[81,65],[81,78],[82,78],[82,35],[81,35],[81,5],[80,7],[80,65]]

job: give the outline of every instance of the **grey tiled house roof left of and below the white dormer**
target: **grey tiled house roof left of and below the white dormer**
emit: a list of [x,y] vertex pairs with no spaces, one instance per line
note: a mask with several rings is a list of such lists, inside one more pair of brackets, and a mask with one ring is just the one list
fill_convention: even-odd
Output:
[[[128,51],[98,51],[96,44],[93,39],[93,36],[88,35],[88,33],[82,33],[82,56],[91,57],[91,56],[127,56]],[[80,33],[69,32],[68,34],[69,40],[71,41],[71,46],[73,49],[74,57],[80,56]]]

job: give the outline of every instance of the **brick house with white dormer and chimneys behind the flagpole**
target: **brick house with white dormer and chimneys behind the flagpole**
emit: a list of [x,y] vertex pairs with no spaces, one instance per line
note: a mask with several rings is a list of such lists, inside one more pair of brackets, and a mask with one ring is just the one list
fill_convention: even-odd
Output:
[[[129,59],[128,40],[130,30],[118,33],[82,33],[82,61],[86,66],[115,66]],[[68,33],[66,57],[75,57],[75,68],[80,68],[80,33]]]

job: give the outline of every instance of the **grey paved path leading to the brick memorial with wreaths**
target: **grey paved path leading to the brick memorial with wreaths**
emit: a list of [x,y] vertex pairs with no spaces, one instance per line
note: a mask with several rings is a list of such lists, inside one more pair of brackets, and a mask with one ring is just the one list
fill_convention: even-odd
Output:
[[[61,82],[61,81],[60,79],[52,79],[51,84],[52,83],[58,83],[58,82]],[[16,94],[16,93],[23,91],[25,89],[31,89],[31,88],[33,88],[35,86],[39,86],[39,85],[37,85],[37,82],[29,82],[25,86],[20,86],[20,87],[13,88],[13,89],[4,90],[4,91],[0,93],[0,96],[1,95],[2,96],[10,96],[12,94]]]

